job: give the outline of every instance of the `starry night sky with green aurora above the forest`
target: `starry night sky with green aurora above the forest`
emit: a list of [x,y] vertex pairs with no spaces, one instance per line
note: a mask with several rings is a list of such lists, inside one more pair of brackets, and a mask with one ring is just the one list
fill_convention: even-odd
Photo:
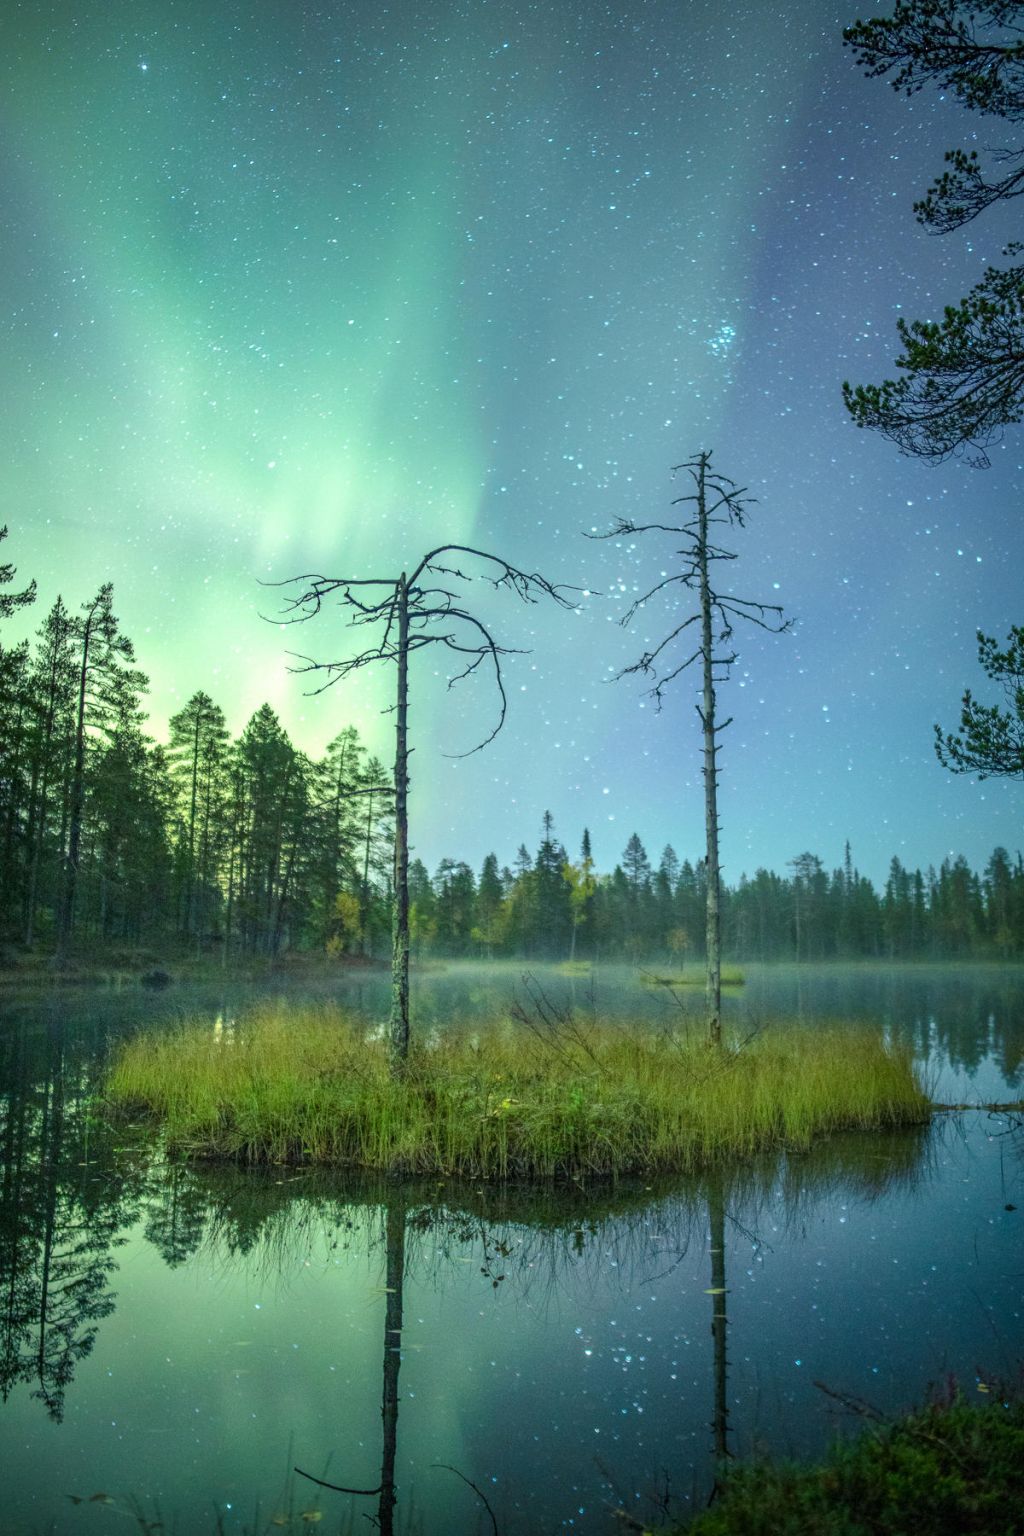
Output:
[[[867,11],[864,11],[867,14]],[[611,682],[679,611],[617,619],[671,568],[671,467],[757,498],[722,702],[725,879],[811,849],[884,880],[1024,839],[1022,790],[947,774],[932,725],[989,697],[975,631],[1024,621],[1024,430],[938,468],[858,432],[844,378],[892,373],[895,319],[999,263],[1001,210],[935,238],[912,201],[992,124],[864,80],[823,0],[9,0],[0,20],[5,554],[41,601],[101,581],[152,679],[150,730],[206,688],[302,748],[382,754],[393,671],[344,656],[304,571],[391,576],[470,542],[590,593],[470,596],[507,659],[416,660],[411,839],[430,866],[536,846],[551,809],[599,868],[631,831],[703,852],[695,677],[660,714]],[[1010,210],[1012,212],[1012,210]],[[8,634],[17,628],[8,625]]]

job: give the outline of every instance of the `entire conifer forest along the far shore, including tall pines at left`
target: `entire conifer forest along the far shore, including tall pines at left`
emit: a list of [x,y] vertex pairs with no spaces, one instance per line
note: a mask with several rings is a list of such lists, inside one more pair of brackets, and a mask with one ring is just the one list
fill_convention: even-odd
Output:
[[[11,567],[0,567],[0,585]],[[0,593],[0,617],[34,588]],[[146,677],[112,590],[78,613],[58,599],[34,644],[0,648],[0,935],[86,954],[177,943],[224,960],[284,951],[384,955],[390,934],[390,774],[341,731],[321,759],[298,751],[264,705],[232,739],[195,693],[169,740],[146,736]],[[634,834],[599,872],[583,833],[570,857],[545,816],[534,852],[479,872],[445,859],[410,868],[421,955],[700,958],[703,862]],[[815,854],[785,876],[758,869],[723,889],[737,960],[1024,954],[1024,866],[998,848],[984,872],[892,860],[877,891]]]

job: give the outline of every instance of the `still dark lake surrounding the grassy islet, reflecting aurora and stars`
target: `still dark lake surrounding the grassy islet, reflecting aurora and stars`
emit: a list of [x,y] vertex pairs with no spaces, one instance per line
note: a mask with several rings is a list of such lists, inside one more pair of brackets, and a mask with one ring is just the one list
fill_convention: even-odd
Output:
[[[539,989],[700,1028],[699,989],[625,968],[468,965],[415,978],[415,1028]],[[620,1530],[702,1507],[723,1452],[817,1453],[843,1399],[895,1412],[950,1375],[981,1399],[1024,1359],[1010,1114],[570,1192],[167,1167],[95,1115],[114,1040],[230,1029],[256,991],[3,1005],[5,1531]],[[378,975],[319,991],[385,1009]],[[943,1101],[1022,1092],[1021,968],[751,968],[725,1012],[881,1026]]]

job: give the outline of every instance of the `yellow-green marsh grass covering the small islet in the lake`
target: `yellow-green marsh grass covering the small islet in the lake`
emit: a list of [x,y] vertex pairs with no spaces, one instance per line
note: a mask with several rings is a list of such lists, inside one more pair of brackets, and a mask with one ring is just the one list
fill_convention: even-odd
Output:
[[920,1121],[910,1054],[852,1028],[712,1051],[649,1026],[494,1021],[433,1032],[405,1075],[332,1005],[183,1023],[115,1057],[106,1095],[169,1150],[485,1180],[692,1170],[834,1130]]

